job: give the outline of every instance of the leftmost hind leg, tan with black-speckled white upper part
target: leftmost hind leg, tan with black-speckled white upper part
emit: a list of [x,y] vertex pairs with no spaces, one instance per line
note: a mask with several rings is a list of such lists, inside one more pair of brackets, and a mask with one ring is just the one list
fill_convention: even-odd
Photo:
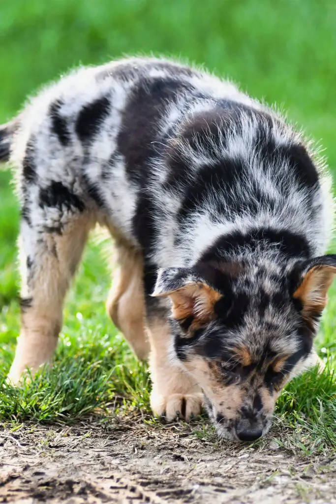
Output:
[[72,214],[68,208],[64,212],[67,222],[54,228],[50,221],[58,211],[47,207],[43,212],[37,209],[33,216],[25,207],[22,211],[22,327],[8,377],[14,384],[26,368],[34,372],[51,358],[62,324],[64,296],[95,222],[86,211]]

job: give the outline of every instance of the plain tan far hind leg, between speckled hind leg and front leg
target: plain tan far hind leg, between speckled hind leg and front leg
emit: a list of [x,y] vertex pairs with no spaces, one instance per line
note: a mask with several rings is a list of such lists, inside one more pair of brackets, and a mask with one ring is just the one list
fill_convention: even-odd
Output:
[[145,360],[149,354],[149,342],[144,327],[143,260],[137,250],[126,245],[117,245],[117,268],[106,307],[134,353],[140,360]]

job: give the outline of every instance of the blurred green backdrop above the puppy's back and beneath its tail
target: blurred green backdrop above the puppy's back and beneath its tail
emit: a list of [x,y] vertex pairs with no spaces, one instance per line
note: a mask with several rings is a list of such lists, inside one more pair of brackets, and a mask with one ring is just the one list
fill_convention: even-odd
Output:
[[[151,53],[276,102],[336,167],[334,0],[2,0],[0,121],[74,65]],[[0,171],[0,306],[17,296],[18,207]]]

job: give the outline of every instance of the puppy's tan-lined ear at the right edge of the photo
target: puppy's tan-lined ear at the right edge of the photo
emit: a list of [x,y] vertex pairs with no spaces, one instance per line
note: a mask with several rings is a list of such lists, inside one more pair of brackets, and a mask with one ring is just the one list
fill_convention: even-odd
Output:
[[292,274],[292,297],[302,317],[314,326],[327,303],[327,291],[336,275],[336,255],[304,261]]

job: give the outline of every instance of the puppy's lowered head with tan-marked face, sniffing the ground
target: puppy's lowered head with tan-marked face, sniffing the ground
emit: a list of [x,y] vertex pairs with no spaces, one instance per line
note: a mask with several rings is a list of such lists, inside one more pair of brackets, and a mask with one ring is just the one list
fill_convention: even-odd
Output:
[[280,391],[315,361],[313,338],[336,256],[291,268],[213,262],[160,270],[171,300],[172,358],[195,378],[220,435],[266,433]]

